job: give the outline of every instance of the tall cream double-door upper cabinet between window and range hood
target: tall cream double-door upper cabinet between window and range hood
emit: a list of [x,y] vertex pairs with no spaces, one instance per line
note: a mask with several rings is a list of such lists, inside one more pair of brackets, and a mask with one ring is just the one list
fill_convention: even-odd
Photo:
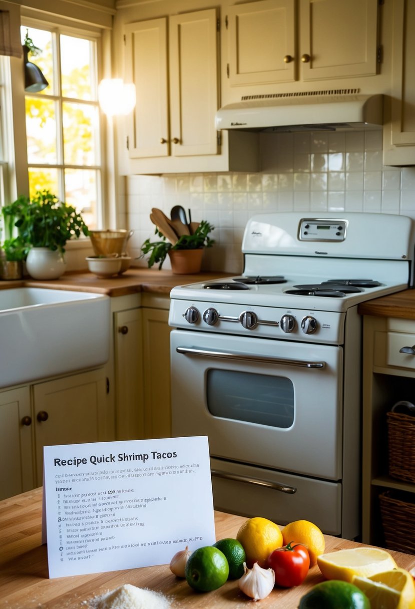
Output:
[[130,158],[217,154],[216,10],[127,24],[125,44],[137,94]]

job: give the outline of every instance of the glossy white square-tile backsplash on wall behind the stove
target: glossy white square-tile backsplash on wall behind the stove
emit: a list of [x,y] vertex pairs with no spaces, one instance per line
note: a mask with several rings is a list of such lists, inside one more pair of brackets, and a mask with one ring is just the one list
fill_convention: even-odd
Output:
[[[192,220],[215,226],[216,244],[203,268],[240,273],[242,237],[257,213],[377,212],[415,219],[415,167],[382,165],[382,131],[262,133],[263,171],[132,175],[125,178],[120,225],[134,230],[130,253],[154,234],[152,207],[169,214],[173,205],[191,209]],[[136,261],[146,266],[143,260]],[[166,260],[163,268],[169,269]]]

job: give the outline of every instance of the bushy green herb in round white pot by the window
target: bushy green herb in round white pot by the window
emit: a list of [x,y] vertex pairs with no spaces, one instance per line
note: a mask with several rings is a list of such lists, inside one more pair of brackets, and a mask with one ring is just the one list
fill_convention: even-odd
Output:
[[20,196],[2,213],[6,240],[16,227],[27,250],[27,272],[34,279],[59,278],[66,268],[66,242],[89,233],[76,209],[46,189],[37,191],[32,200]]

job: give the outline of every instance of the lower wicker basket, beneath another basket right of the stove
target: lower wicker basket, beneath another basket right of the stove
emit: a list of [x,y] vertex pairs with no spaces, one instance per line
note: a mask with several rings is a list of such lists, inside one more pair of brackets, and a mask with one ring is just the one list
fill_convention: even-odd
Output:
[[379,495],[385,546],[415,554],[415,495],[386,491]]

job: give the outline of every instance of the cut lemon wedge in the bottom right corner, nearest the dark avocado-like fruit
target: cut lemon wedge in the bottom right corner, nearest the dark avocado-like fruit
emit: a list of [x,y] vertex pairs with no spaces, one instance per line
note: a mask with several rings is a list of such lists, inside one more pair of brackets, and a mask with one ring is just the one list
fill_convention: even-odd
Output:
[[372,609],[415,607],[415,583],[405,569],[393,569],[371,577],[355,576],[353,583],[366,594]]

